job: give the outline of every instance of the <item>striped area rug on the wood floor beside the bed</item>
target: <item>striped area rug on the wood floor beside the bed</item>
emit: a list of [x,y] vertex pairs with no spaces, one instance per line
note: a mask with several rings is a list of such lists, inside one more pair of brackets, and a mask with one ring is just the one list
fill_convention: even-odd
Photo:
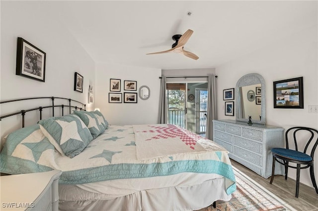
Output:
[[228,202],[217,201],[199,211],[293,211],[294,209],[245,174],[235,170],[237,190]]

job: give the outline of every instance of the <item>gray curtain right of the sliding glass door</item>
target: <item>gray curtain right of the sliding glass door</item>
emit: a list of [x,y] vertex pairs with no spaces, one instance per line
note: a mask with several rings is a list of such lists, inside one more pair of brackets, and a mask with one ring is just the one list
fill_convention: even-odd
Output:
[[217,119],[216,78],[215,75],[209,75],[206,138],[210,140],[213,140],[213,119]]

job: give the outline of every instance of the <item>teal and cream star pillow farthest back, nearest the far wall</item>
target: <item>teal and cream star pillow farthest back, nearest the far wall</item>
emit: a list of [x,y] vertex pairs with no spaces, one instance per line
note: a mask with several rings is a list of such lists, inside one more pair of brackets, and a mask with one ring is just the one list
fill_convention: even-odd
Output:
[[78,115],[79,118],[85,123],[93,138],[96,138],[99,134],[103,133],[108,127],[108,122],[104,118],[103,114],[98,110],[75,110],[74,114]]

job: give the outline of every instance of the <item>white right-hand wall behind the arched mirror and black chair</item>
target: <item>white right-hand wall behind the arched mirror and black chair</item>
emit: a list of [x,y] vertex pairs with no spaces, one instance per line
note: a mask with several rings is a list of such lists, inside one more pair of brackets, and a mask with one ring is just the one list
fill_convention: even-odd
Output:
[[[316,20],[317,23],[317,20]],[[266,84],[266,123],[286,129],[307,126],[318,129],[318,114],[309,113],[309,105],[318,105],[318,26],[317,24],[277,40],[275,43],[235,61],[218,66],[218,119],[235,119],[224,115],[223,90],[234,88],[239,78],[248,73],[259,73]],[[304,109],[273,108],[273,82],[304,77]],[[263,103],[263,102],[262,102]],[[316,153],[314,160],[318,160]],[[316,179],[318,168],[316,162]],[[295,179],[296,171],[290,169],[288,176]],[[302,170],[302,183],[313,186],[309,170]]]

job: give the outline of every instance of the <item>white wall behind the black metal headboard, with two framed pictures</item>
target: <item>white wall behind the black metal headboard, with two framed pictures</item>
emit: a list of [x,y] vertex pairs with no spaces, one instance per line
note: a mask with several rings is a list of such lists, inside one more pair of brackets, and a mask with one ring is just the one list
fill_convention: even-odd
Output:
[[[95,81],[95,63],[68,30],[56,21],[54,9],[40,9],[50,5],[40,1],[1,1],[1,101],[54,96],[87,104],[89,83],[94,85]],[[46,53],[45,83],[15,75],[17,37]],[[74,91],[75,72],[83,76],[83,93]],[[1,115],[9,110],[32,108],[34,104],[23,103],[22,106],[1,104]],[[91,107],[93,105],[86,106],[88,110]],[[1,140],[4,134],[21,127],[20,122],[15,127],[11,125],[20,118],[18,115],[0,121]]]

